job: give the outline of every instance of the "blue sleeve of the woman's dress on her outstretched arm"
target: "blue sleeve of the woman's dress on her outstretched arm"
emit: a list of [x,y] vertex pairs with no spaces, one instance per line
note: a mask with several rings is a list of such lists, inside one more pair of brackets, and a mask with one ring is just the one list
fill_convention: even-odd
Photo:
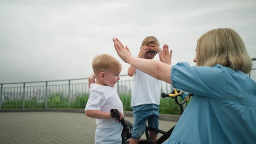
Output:
[[172,66],[171,80],[174,88],[194,95],[223,99],[228,89],[228,72],[222,65],[191,67],[187,62]]

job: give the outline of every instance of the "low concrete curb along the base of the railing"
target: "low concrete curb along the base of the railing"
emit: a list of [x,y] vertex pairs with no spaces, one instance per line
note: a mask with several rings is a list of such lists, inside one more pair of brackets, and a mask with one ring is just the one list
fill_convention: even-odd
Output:
[[[72,113],[84,113],[84,109],[0,109],[0,112],[72,112]],[[124,111],[124,115],[127,117],[133,117],[131,111]],[[179,115],[167,115],[160,114],[160,120],[177,122]]]

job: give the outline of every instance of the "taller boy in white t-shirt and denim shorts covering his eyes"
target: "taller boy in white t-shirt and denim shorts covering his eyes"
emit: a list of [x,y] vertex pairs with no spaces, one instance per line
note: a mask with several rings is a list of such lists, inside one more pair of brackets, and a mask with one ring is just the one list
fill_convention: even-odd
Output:
[[[171,64],[172,51],[168,52],[168,45],[159,47],[159,41],[155,37],[146,37],[141,44],[138,58],[153,59],[157,53],[161,62]],[[132,113],[133,128],[130,143],[138,143],[140,137],[148,127],[159,128],[159,104],[160,104],[160,81],[146,73],[130,66],[128,75],[133,76],[132,88]],[[157,133],[149,131],[150,140],[157,140]]]

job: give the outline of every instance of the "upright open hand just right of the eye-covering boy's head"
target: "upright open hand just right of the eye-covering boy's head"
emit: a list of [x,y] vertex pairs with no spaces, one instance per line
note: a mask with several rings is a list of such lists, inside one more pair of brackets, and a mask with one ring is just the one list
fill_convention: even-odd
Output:
[[159,53],[160,61],[166,64],[171,65],[172,62],[172,50],[169,53],[169,46],[165,44],[162,46],[162,52]]

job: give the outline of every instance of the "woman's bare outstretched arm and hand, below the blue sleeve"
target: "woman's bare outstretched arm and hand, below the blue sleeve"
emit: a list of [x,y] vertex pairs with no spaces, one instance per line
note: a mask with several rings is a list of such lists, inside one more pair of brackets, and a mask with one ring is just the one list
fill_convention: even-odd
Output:
[[167,83],[171,82],[171,65],[162,63],[160,61],[155,61],[153,59],[142,59],[132,57],[128,47],[124,45],[117,39],[113,38],[115,51],[117,51],[119,57],[123,59],[124,62],[131,64],[133,67],[143,71],[144,73],[155,77],[156,79],[165,81]]

